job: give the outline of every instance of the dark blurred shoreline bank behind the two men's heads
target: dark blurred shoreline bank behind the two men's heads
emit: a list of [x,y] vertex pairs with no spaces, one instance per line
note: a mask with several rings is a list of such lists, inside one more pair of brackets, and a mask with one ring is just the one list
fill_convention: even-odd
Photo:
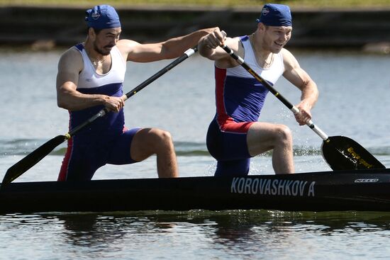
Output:
[[[86,35],[85,8],[0,7],[0,45],[69,46]],[[118,7],[122,38],[156,42],[219,26],[230,36],[255,31],[258,9]],[[294,48],[372,48],[390,50],[390,9],[292,10]]]

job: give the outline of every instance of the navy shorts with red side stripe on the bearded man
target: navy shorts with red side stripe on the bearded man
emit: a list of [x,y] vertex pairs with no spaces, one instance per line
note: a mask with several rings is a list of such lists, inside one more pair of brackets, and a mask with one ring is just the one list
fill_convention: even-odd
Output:
[[96,135],[88,140],[75,135],[68,140],[58,181],[91,180],[95,171],[105,164],[135,163],[130,156],[130,145],[138,130],[133,128],[114,136]]

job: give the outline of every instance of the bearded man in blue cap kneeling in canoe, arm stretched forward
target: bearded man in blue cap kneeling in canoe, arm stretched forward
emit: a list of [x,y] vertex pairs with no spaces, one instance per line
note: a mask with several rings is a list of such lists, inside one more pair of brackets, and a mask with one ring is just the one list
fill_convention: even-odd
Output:
[[124,127],[122,88],[126,62],[179,57],[215,28],[197,30],[162,43],[140,44],[134,40],[119,40],[121,21],[112,6],[89,9],[86,21],[87,40],[71,47],[60,58],[57,104],[69,111],[70,130],[104,107],[114,113],[99,118],[69,139],[58,181],[90,180],[104,164],[132,164],[152,154],[157,155],[158,176],[178,176],[169,132]]

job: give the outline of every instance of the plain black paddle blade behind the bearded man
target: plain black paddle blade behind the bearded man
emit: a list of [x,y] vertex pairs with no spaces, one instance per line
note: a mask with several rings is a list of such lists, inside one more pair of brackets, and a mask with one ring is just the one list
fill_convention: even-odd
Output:
[[4,186],[18,178],[18,176],[21,176],[23,173],[28,171],[28,169],[37,164],[41,159],[43,159],[43,157],[50,154],[50,152],[52,152],[55,147],[60,145],[65,140],[67,140],[65,135],[58,135],[52,140],[45,142],[43,145],[35,149],[16,164],[13,164],[13,166],[7,170],[3,181],[1,182],[1,188],[4,188]]

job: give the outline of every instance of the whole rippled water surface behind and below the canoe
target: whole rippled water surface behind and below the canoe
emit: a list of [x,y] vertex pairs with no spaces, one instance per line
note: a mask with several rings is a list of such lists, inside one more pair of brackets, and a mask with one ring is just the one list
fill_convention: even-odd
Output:
[[[0,177],[56,135],[68,113],[56,105],[55,75],[63,50],[1,52]],[[360,52],[296,52],[317,82],[314,122],[345,135],[390,166],[390,62]],[[130,91],[170,61],[128,63]],[[275,85],[291,103],[299,91]],[[126,125],[169,130],[181,176],[211,176],[216,162],[205,145],[214,114],[213,64],[191,57],[126,101]],[[322,140],[269,95],[260,120],[288,125],[297,172],[328,171]],[[16,181],[55,181],[65,143]],[[252,159],[250,174],[273,174],[270,154]],[[94,179],[152,178],[155,157],[104,166]],[[129,198],[141,199],[141,198]],[[158,199],[158,198],[156,198]],[[387,213],[289,213],[275,210],[141,213],[45,213],[0,216],[0,259],[381,259],[389,255]]]

